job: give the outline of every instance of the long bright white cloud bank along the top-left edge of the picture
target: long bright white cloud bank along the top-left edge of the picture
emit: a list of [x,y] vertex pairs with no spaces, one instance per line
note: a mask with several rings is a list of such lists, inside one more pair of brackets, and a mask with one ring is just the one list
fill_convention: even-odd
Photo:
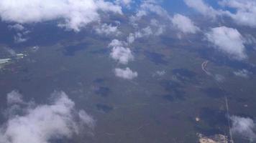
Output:
[[122,14],[122,8],[104,0],[1,0],[0,16],[19,24],[62,19],[59,26],[79,31],[99,21],[99,11]]

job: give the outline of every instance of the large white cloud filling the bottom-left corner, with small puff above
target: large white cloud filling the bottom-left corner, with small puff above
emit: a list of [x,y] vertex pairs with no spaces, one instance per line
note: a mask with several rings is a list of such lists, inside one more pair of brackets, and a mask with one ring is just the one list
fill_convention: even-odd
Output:
[[[12,114],[0,128],[1,143],[50,143],[52,139],[71,138],[81,129],[94,126],[93,118],[78,111],[75,103],[64,92],[52,94],[51,104],[24,107],[22,113]],[[21,102],[17,92],[7,96],[9,102]],[[9,107],[11,108],[11,107]]]

